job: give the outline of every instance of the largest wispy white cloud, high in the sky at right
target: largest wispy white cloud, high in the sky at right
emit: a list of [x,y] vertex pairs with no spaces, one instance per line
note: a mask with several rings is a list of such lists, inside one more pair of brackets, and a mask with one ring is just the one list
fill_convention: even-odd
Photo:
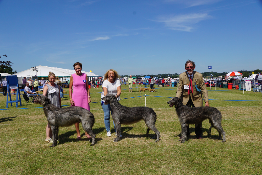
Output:
[[166,27],[172,30],[191,32],[194,24],[209,18],[211,18],[211,15],[207,13],[192,13],[176,16],[160,16],[155,21],[164,23]]

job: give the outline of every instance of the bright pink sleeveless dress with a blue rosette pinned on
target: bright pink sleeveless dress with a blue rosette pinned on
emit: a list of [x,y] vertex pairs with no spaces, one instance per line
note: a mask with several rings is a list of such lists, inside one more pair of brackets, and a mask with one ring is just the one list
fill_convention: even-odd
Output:
[[[86,91],[86,74],[82,75],[72,74],[73,76],[73,94],[72,99],[75,102],[75,106],[80,106],[90,111],[89,103],[87,103],[88,95]],[[72,106],[72,105],[71,105]]]

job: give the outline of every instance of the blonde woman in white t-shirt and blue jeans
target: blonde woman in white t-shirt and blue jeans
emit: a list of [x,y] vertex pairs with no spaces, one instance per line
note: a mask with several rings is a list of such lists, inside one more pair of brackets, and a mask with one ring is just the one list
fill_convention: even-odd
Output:
[[[120,94],[121,94],[121,83],[119,80],[119,75],[117,73],[117,71],[110,69],[108,70],[105,75],[104,75],[104,82],[102,85],[102,89],[103,92],[101,93],[101,98],[105,97],[107,93],[109,94],[113,94],[116,96],[117,100],[120,100]],[[111,132],[110,132],[110,104],[105,105],[104,104],[105,101],[101,100],[101,106],[103,108],[104,111],[104,122],[105,122],[105,127],[106,127],[106,132],[107,132],[107,136],[110,137],[111,136]],[[114,121],[113,121],[114,124]],[[114,124],[115,127],[115,124]],[[116,132],[116,128],[115,128],[115,132]],[[122,135],[120,135],[119,137],[122,137]]]

